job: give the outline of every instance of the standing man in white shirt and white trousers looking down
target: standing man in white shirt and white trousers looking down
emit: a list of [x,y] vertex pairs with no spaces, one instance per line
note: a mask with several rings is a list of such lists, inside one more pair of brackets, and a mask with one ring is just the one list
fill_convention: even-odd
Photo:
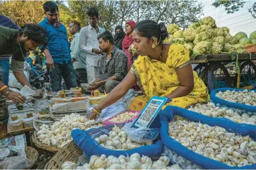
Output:
[[80,31],[80,49],[86,52],[86,70],[88,83],[98,78],[98,67],[100,66],[101,52],[97,36],[105,29],[98,27],[98,10],[90,7],[87,11],[89,25]]

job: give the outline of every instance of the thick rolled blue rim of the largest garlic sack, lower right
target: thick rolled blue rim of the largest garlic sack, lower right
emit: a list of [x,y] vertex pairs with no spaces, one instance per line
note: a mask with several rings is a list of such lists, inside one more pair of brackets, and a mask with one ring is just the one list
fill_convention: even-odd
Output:
[[193,122],[201,122],[202,124],[207,124],[209,126],[219,126],[229,132],[238,133],[243,136],[249,135],[254,141],[256,140],[256,126],[249,124],[235,124],[235,122],[226,118],[211,118],[176,106],[167,106],[162,112],[160,112],[160,136],[162,142],[166,147],[168,147],[168,149],[175,151],[178,155],[181,155],[196,165],[206,169],[256,169],[256,164],[243,167],[229,167],[224,163],[203,157],[202,155],[191,151],[187,147],[184,147],[168,134],[168,124],[170,121],[174,120],[175,115]]

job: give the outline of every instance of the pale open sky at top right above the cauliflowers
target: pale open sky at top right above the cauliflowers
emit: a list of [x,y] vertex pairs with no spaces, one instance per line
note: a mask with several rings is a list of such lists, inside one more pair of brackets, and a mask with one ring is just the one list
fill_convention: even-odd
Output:
[[205,5],[203,7],[203,16],[211,16],[216,21],[217,27],[229,28],[230,34],[235,35],[238,32],[244,32],[249,35],[256,31],[256,19],[251,16],[249,9],[256,0],[245,0],[246,3],[242,9],[233,13],[227,14],[224,7],[215,8],[211,4],[214,0],[198,0]]

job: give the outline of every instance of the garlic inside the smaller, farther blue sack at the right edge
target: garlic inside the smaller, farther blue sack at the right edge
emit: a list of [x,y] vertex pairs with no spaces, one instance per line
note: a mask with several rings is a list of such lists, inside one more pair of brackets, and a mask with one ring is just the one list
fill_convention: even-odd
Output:
[[217,92],[216,96],[229,102],[246,104],[249,106],[256,106],[256,92],[249,92],[247,89],[243,91],[230,91]]

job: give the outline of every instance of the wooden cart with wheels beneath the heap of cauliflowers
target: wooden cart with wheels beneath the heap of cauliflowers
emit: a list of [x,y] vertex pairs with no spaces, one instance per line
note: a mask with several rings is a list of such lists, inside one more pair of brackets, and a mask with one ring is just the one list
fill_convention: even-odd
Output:
[[[255,88],[256,65],[252,60],[256,60],[255,53],[205,54],[196,56],[191,62],[197,64],[193,70],[211,91],[223,87]],[[235,74],[230,74],[228,69],[236,71]]]

